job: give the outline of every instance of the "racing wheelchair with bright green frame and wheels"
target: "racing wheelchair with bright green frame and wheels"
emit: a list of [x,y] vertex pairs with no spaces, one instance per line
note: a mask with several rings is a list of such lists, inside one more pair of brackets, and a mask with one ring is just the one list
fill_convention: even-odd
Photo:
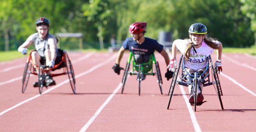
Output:
[[[132,61],[133,67],[132,67],[132,71],[129,71],[131,61]],[[156,68],[155,72],[153,71],[153,66],[154,65],[155,65],[155,68]],[[124,90],[124,86],[126,84],[128,74],[137,75],[137,80],[139,82],[139,96],[140,96],[140,89],[141,89],[140,84],[141,84],[141,81],[142,81],[142,74],[144,74],[144,75],[153,75],[153,76],[156,75],[157,82],[159,84],[161,94],[163,94],[163,92],[162,92],[163,81],[162,81],[162,77],[161,77],[159,64],[158,64],[158,61],[156,61],[156,57],[155,57],[154,53],[149,56],[149,61],[148,62],[142,63],[142,64],[137,64],[135,62],[135,58],[134,58],[133,53],[130,52],[128,61],[126,63],[126,68],[125,68],[125,71],[124,71],[124,74],[123,74],[123,79],[122,79],[122,83],[123,83],[122,92],[121,92],[122,94],[123,94],[123,90]]]

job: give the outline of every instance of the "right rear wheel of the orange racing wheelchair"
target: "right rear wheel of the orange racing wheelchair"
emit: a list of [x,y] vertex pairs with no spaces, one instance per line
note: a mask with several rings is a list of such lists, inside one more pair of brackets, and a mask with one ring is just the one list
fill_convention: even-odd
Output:
[[67,68],[67,73],[69,76],[69,82],[70,82],[71,89],[72,89],[73,93],[76,93],[76,78],[75,78],[74,69],[73,69],[71,61],[69,59],[69,56],[67,54],[66,54],[66,57],[67,57],[66,68]]

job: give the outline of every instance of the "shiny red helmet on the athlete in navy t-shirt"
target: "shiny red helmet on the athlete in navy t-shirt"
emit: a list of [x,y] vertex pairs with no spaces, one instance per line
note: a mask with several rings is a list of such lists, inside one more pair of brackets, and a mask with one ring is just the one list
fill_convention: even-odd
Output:
[[131,34],[139,34],[141,32],[146,32],[147,23],[145,22],[136,22],[130,25],[129,32]]

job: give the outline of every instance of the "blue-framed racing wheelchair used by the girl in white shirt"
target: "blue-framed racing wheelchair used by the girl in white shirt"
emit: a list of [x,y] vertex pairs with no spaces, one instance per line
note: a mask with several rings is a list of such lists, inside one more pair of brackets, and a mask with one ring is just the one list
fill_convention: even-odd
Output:
[[[201,73],[201,75],[199,75],[197,72],[195,72],[194,75],[191,75],[185,70],[183,55],[180,57],[178,67],[176,67],[174,70],[173,79],[172,79],[171,86],[168,93],[168,95],[170,95],[170,98],[168,101],[167,109],[169,109],[170,107],[171,99],[175,92],[175,84],[179,84],[183,86],[192,85],[190,96],[193,94],[194,104],[191,104],[191,105],[194,105],[194,111],[196,111],[197,105],[201,105],[201,104],[197,104],[197,95],[198,95],[198,90],[200,89],[199,86],[200,84],[203,84],[204,86],[213,85],[218,95],[218,98],[220,100],[221,109],[224,110],[222,100],[221,100],[221,96],[223,96],[223,93],[220,86],[220,80],[218,77],[217,69],[214,68],[213,66],[211,55],[209,55],[209,57],[206,58],[206,61],[207,61],[206,70],[203,73]],[[211,74],[211,77],[210,77],[210,74]],[[187,77],[186,75],[190,77]]]

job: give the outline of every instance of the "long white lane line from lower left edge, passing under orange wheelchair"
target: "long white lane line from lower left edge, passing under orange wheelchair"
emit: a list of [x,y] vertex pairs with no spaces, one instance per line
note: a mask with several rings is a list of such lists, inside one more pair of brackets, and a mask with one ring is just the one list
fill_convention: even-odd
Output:
[[[107,59],[106,61],[104,61],[104,62],[102,62],[102,63],[100,63],[100,64],[97,64],[96,66],[93,66],[93,67],[90,68],[88,71],[85,71],[85,72],[83,72],[83,73],[80,73],[80,74],[76,75],[75,77],[78,78],[78,77],[81,77],[81,76],[83,76],[83,75],[86,75],[86,74],[88,74],[88,73],[94,71],[95,69],[100,68],[101,66],[104,66],[104,65],[107,64],[108,62],[112,61],[115,57],[116,57],[116,54],[114,54],[111,58]],[[63,84],[66,84],[67,82],[69,82],[69,79],[67,79],[67,80],[65,80],[65,81],[63,81],[63,82],[61,82],[60,84],[57,84],[56,86],[53,86],[53,87],[50,88],[50,89],[47,89],[45,92],[42,93],[42,95],[44,95],[44,94],[46,94],[46,93],[48,93],[48,92],[50,92],[50,91],[52,91],[52,90],[58,88],[59,86],[62,86]],[[24,101],[18,103],[17,105],[14,105],[14,106],[10,107],[9,109],[6,109],[5,111],[1,112],[1,113],[0,113],[0,116],[2,116],[2,115],[5,114],[6,112],[9,112],[10,110],[12,110],[12,109],[14,109],[14,108],[16,108],[16,107],[18,107],[18,106],[20,106],[20,105],[23,105],[24,103],[26,103],[26,102],[28,102],[28,101],[30,101],[30,100],[33,100],[33,99],[35,99],[35,98],[38,98],[38,97],[40,97],[40,96],[42,96],[42,95],[38,94],[38,95],[33,96],[33,97],[31,97],[31,98],[29,98],[29,99],[27,99],[27,100],[24,100]]]

